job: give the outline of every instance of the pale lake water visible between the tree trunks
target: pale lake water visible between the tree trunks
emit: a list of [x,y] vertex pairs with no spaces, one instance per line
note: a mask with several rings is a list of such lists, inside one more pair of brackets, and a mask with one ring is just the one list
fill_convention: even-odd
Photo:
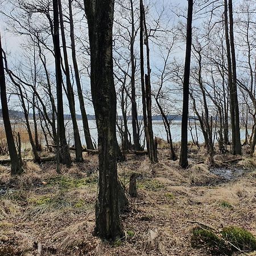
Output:
[[[84,132],[82,130],[82,121],[77,121],[80,129],[80,136],[81,136],[81,142],[82,144],[85,144],[85,138],[84,138]],[[96,128],[96,122],[93,120],[89,120],[89,127],[90,127],[90,134],[93,138],[94,142],[97,142],[97,128]],[[132,132],[132,126],[131,122],[128,123],[128,129],[130,133]],[[163,122],[161,121],[153,121],[153,131],[154,136],[163,138],[164,140],[167,139],[166,137],[166,131],[164,130]],[[250,132],[250,131],[249,131]],[[73,144],[73,135],[72,135],[72,121],[67,121],[67,133],[69,138],[69,143]],[[181,122],[180,121],[173,121],[171,125],[171,133],[172,133],[172,141],[174,142],[180,142],[181,141]],[[192,127],[192,134],[194,139],[196,139],[196,129],[195,127]],[[200,130],[200,126],[197,126],[197,135],[199,139],[199,143],[204,142],[203,133]],[[131,134],[132,136],[132,134]],[[119,138],[119,134],[117,133],[118,141],[121,141]],[[144,134],[142,134],[142,143],[143,143]],[[245,139],[245,130],[241,129],[241,140]],[[188,131],[188,141],[192,141],[191,133]],[[215,139],[215,142],[216,139]]]

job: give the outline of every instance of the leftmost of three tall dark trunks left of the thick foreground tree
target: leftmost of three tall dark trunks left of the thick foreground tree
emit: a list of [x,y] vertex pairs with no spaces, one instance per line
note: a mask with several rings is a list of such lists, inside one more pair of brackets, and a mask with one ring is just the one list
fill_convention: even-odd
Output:
[[[57,162],[71,166],[71,156],[65,135],[63,96],[62,96],[62,73],[59,36],[59,7],[58,1],[53,0],[53,46],[55,52],[56,88],[57,88]],[[58,166],[58,164],[57,164]],[[60,171],[60,170],[58,170]]]

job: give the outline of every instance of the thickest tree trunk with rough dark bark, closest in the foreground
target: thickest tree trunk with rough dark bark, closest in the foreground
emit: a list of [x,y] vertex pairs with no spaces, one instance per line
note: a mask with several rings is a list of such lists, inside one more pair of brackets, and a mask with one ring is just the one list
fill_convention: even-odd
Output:
[[96,234],[107,240],[123,236],[119,206],[124,192],[117,176],[115,122],[117,98],[113,76],[114,0],[84,0],[90,41],[90,79],[98,129],[99,183]]

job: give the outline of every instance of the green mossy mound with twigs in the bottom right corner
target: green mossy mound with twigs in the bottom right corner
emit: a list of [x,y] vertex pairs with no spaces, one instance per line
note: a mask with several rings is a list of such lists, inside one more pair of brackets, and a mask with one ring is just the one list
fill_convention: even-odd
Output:
[[197,226],[192,229],[191,245],[204,247],[213,255],[232,255],[238,249],[256,250],[256,238],[247,230],[235,226],[225,227],[220,232]]

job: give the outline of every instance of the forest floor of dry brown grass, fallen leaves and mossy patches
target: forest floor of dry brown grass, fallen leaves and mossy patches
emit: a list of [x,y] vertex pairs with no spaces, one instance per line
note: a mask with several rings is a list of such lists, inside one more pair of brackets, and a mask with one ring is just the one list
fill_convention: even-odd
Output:
[[2,166],[0,255],[210,255],[191,246],[195,224],[188,221],[240,226],[256,235],[255,160],[216,155],[211,171],[200,155],[190,154],[187,170],[167,160],[168,150],[159,150],[153,166],[137,155],[118,164],[126,189],[130,175],[138,174],[138,197],[121,216],[126,237],[113,244],[93,236],[97,156],[85,155],[61,175],[54,163],[27,162],[17,177]]

